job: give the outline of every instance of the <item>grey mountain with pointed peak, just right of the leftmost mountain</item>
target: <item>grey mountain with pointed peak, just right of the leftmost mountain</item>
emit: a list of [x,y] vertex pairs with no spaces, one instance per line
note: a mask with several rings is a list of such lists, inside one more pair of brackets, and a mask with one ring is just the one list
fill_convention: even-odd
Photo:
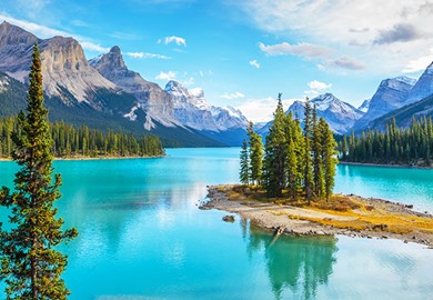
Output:
[[89,60],[89,63],[105,79],[135,96],[138,107],[132,108],[129,118],[137,118],[134,111],[141,108],[148,116],[144,126],[148,130],[154,128],[153,121],[165,127],[179,126],[173,118],[172,98],[157,83],[147,81],[140,73],[129,70],[118,46],[111,48],[109,53]]

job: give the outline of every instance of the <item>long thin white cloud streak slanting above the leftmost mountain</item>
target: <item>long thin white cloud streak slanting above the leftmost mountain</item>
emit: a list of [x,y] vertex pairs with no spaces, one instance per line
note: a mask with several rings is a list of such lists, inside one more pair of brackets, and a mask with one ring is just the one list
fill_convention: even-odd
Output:
[[34,22],[14,19],[14,18],[6,16],[6,14],[0,14],[0,20],[4,20],[7,22],[10,22],[11,24],[21,27],[22,29],[33,33],[34,36],[37,36],[38,38],[41,38],[41,39],[48,39],[48,38],[52,38],[56,36],[72,37],[77,41],[79,41],[81,47],[85,50],[95,51],[95,52],[100,52],[100,53],[108,52],[110,50],[110,48],[104,48],[98,43],[93,43],[93,42],[89,41],[88,38],[77,36],[77,34],[71,34],[69,32],[57,30],[57,29],[49,28],[46,26],[41,26],[41,24],[34,23]]

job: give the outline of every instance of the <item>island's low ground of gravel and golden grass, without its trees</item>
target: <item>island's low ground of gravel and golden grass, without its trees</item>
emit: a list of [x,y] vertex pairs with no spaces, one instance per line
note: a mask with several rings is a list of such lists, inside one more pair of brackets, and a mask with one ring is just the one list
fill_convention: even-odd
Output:
[[260,189],[241,184],[211,186],[208,198],[201,209],[238,213],[278,236],[343,234],[433,247],[433,216],[413,211],[411,204],[354,194],[333,194],[324,203],[289,203],[269,200]]

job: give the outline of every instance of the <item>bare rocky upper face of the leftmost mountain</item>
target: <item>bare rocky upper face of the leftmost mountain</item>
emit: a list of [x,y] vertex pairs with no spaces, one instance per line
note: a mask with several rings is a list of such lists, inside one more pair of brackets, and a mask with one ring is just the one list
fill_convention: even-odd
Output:
[[74,39],[54,37],[39,40],[8,22],[0,24],[0,71],[27,82],[32,48],[37,41],[42,61],[43,90],[47,96],[60,97],[69,106],[72,104],[70,102],[72,96],[78,102],[85,101],[101,110],[103,108],[95,97],[97,91],[101,89],[119,91],[114,83],[89,66],[81,46]]

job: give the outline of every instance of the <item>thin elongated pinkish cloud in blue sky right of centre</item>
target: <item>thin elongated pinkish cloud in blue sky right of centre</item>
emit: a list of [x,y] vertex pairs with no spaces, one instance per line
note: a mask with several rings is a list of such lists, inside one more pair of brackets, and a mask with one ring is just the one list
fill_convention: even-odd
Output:
[[334,52],[331,48],[301,42],[298,44],[290,44],[288,42],[276,43],[265,46],[264,43],[259,43],[260,50],[265,52],[268,56],[298,56],[304,57],[308,59],[313,58],[325,58]]

